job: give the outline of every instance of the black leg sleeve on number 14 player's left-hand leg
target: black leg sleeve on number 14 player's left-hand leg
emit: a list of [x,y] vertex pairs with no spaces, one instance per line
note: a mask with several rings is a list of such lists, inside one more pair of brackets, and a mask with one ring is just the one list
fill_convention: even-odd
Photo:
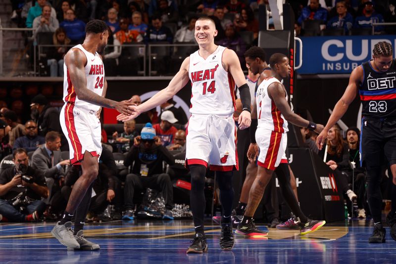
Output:
[[205,212],[205,186],[206,167],[203,165],[190,165],[191,192],[190,204],[193,212],[194,228],[196,233],[203,234],[203,214]]

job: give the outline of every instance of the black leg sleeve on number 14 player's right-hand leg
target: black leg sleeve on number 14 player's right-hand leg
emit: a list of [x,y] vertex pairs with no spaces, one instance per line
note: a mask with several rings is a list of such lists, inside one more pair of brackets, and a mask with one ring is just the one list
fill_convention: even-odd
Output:
[[217,171],[216,181],[220,189],[220,203],[223,208],[223,220],[231,222],[232,203],[234,201],[234,188],[232,187],[232,171]]

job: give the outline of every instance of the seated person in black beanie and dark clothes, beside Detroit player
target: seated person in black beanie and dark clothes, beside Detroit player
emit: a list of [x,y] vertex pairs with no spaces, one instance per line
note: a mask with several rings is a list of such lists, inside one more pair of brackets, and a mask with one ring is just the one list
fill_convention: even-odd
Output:
[[349,127],[347,129],[347,142],[349,161],[351,166],[342,168],[342,170],[347,172],[347,174],[349,175],[349,182],[352,182],[351,179],[353,176],[354,190],[357,194],[357,217],[366,218],[366,211],[364,210],[364,197],[366,193],[366,170],[360,166],[361,158],[359,152],[359,140],[360,130],[357,127]]

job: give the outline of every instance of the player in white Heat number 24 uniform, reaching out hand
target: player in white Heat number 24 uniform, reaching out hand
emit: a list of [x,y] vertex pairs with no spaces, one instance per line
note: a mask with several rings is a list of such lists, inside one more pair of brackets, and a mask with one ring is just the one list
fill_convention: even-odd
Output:
[[[91,20],[86,26],[82,45],[70,49],[64,57],[63,101],[60,124],[66,136],[70,161],[81,165],[82,174],[74,183],[66,211],[51,231],[68,250],[98,250],[99,245],[84,238],[83,226],[91,201],[92,183],[98,176],[101,153],[100,107],[115,108],[129,115],[129,101],[115,102],[104,98],[107,82],[99,55],[107,44],[107,25],[101,20]],[[74,233],[71,219],[75,215]]]

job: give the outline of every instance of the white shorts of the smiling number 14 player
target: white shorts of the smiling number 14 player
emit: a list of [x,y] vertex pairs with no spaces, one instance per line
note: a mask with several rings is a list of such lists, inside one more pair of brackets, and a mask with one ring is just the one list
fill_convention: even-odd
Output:
[[193,114],[187,126],[186,166],[210,170],[238,170],[237,128],[231,116]]

